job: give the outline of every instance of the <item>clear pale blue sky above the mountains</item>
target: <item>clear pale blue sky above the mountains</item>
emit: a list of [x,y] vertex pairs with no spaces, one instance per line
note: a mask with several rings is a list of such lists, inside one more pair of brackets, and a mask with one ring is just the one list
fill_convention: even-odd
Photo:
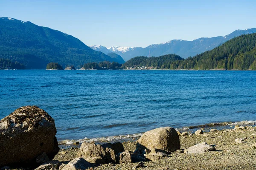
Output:
[[0,17],[73,35],[86,45],[146,47],[256,27],[256,0],[0,0]]

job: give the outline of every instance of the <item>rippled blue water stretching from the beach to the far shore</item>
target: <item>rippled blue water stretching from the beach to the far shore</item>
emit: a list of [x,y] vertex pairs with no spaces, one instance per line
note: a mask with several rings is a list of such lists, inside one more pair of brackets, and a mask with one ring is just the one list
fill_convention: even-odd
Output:
[[58,140],[256,120],[255,71],[0,70],[0,119],[49,113]]

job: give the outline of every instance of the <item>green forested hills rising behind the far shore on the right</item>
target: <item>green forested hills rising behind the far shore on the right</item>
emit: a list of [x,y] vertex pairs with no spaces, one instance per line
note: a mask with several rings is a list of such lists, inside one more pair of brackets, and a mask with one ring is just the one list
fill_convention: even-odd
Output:
[[195,57],[182,59],[175,54],[160,57],[135,57],[123,68],[153,67],[155,69],[241,69],[256,70],[256,34],[233,38],[223,45]]

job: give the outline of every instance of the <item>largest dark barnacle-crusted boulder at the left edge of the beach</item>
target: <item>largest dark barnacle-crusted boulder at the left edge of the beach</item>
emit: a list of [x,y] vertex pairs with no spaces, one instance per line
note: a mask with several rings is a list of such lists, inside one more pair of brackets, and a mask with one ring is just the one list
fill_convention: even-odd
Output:
[[44,110],[36,106],[16,109],[0,120],[0,167],[52,160],[59,151],[55,134],[54,119]]

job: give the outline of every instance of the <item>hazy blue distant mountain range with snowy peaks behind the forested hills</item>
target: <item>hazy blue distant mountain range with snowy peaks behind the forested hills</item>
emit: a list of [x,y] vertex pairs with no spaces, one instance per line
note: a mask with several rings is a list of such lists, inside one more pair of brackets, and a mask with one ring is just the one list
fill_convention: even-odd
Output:
[[160,44],[152,44],[148,47],[111,47],[106,48],[102,45],[90,46],[93,50],[101,51],[105,54],[116,53],[120,55],[125,61],[137,56],[148,56],[149,52],[151,56],[158,57],[165,54],[177,54],[180,57],[187,58],[193,57],[196,54],[201,54],[204,51],[212,50],[213,48],[223,44],[224,42],[238,37],[243,34],[252,34],[256,32],[256,28],[246,30],[236,30],[231,34],[224,37],[212,37],[212,38],[198,38],[193,41],[186,40],[171,40],[169,42],[163,42]]

